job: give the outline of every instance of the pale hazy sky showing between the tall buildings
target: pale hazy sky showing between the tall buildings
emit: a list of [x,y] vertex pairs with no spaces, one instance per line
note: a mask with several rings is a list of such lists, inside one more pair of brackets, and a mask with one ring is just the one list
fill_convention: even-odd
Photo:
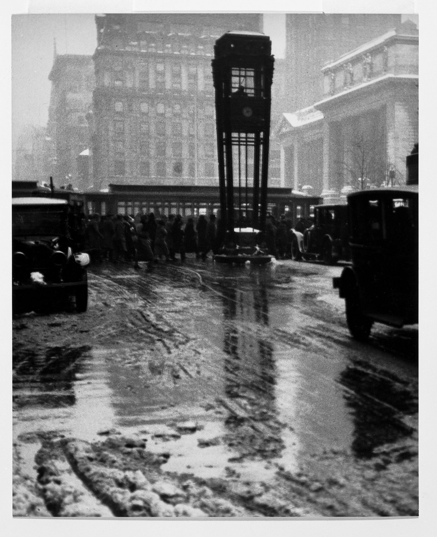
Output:
[[[285,15],[266,14],[264,32],[273,54],[284,57]],[[96,25],[92,14],[12,16],[12,147],[26,124],[46,125],[53,65],[58,54],[93,54]]]

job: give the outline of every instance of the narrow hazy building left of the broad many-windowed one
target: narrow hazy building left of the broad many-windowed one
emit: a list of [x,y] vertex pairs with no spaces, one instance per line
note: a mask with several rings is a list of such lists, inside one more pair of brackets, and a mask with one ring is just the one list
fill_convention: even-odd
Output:
[[95,86],[92,56],[54,54],[49,74],[52,82],[47,135],[54,143],[56,186],[71,184],[80,190],[91,186],[89,173],[78,165],[78,157],[90,143],[87,114]]

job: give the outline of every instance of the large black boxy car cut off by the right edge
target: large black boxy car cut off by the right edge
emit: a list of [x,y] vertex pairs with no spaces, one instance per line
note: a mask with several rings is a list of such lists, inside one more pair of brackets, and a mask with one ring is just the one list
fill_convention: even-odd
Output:
[[333,279],[355,339],[418,322],[418,185],[349,194],[352,266]]

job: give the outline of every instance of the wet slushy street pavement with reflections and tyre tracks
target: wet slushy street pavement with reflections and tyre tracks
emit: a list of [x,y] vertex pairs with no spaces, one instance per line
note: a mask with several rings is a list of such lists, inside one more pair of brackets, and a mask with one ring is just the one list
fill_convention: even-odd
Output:
[[13,320],[17,479],[52,516],[417,515],[418,328],[355,342],[340,272],[92,267],[86,313]]

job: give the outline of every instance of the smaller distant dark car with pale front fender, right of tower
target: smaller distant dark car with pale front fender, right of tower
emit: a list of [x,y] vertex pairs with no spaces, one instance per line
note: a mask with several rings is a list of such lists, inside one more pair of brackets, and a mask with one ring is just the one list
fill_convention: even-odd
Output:
[[327,265],[349,259],[346,205],[316,205],[314,223],[305,230],[293,229],[291,258],[318,258]]

